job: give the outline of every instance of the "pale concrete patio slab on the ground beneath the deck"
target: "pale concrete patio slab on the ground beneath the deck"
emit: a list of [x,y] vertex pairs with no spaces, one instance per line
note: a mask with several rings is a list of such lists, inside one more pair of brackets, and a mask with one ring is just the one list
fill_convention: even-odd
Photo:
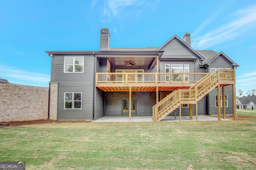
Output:
[[[222,119],[221,121],[230,121],[231,119]],[[174,116],[166,116],[161,121],[180,121],[180,117],[177,116],[176,120]],[[189,116],[182,116],[181,121],[196,121],[196,116],[193,116],[193,119],[189,119]],[[198,115],[198,121],[218,121],[218,117]],[[92,122],[153,122],[152,116],[132,116],[132,119],[129,120],[129,116],[104,116],[99,119],[96,119]]]

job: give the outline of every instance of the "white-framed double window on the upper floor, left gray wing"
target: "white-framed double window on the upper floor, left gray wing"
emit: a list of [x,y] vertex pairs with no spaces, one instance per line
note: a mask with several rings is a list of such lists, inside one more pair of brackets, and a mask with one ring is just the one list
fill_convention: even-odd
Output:
[[65,57],[64,72],[84,72],[84,57]]

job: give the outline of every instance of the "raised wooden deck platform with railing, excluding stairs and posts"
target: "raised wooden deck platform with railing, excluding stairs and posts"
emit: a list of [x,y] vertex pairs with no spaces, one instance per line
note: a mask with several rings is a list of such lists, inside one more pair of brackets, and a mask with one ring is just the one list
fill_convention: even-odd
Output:
[[96,87],[105,92],[188,89],[209,73],[96,73]]

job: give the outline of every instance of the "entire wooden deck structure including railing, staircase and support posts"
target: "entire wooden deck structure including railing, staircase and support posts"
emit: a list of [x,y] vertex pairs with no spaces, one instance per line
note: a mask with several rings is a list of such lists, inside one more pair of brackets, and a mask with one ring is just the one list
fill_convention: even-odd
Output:
[[[154,121],[160,121],[179,107],[181,121],[181,105],[190,106],[190,119],[192,117],[192,105],[195,105],[196,120],[198,120],[197,104],[214,88],[218,90],[218,119],[220,120],[220,87],[225,96],[225,86],[232,85],[235,91],[234,70],[216,70],[213,73],[134,73],[134,72],[110,72],[96,73],[96,87],[104,92],[129,92],[128,106],[132,106],[132,92],[156,92],[156,104],[152,107]],[[159,100],[160,91],[172,91],[165,98]],[[235,93],[234,93],[235,94]],[[233,115],[235,113],[235,96],[233,96]],[[224,101],[224,100],[222,100]],[[222,103],[225,106],[224,102]],[[223,107],[223,115],[225,115]],[[132,116],[131,107],[128,109],[129,119]]]

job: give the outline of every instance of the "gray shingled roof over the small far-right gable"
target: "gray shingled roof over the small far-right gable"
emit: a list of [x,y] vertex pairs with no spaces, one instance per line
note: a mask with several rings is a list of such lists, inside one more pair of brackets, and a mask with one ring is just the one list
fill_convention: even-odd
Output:
[[216,53],[212,50],[196,50],[200,55],[202,55],[205,60],[201,62],[201,66],[208,66],[214,61],[217,57],[222,56],[224,57],[228,62],[232,64],[234,68],[238,67],[239,65],[236,64],[234,61],[232,61],[226,54],[224,54],[222,51],[220,53]]

